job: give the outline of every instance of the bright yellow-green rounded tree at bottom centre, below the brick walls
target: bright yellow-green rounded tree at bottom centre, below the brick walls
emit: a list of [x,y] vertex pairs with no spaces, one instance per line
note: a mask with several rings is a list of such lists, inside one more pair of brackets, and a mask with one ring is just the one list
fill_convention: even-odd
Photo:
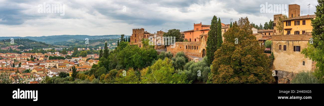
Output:
[[176,73],[170,59],[158,59],[141,71],[141,83],[191,83],[185,74]]

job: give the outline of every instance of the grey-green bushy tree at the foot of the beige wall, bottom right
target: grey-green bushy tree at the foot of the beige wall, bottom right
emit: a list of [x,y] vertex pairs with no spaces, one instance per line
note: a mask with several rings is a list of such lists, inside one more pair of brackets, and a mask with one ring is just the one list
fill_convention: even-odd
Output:
[[293,84],[318,84],[318,79],[313,75],[312,72],[299,72],[291,80]]

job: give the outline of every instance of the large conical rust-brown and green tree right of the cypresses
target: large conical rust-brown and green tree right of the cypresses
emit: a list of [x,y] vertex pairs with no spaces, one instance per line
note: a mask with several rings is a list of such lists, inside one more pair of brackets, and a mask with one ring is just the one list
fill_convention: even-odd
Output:
[[[271,83],[270,60],[252,35],[247,17],[224,34],[225,43],[215,52],[208,83]],[[236,44],[238,38],[238,44]]]

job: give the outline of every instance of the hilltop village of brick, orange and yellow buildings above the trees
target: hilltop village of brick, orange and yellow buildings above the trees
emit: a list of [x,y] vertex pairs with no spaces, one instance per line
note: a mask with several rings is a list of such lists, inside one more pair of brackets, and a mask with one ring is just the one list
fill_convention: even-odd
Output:
[[[316,64],[315,61],[305,58],[301,54],[301,50],[307,48],[307,44],[310,38],[312,38],[311,32],[313,27],[311,26],[311,19],[314,19],[316,16],[300,16],[300,5],[293,4],[289,5],[288,8],[289,15],[286,18],[283,14],[273,16],[273,29],[257,29],[254,27],[251,29],[260,45],[264,46],[266,41],[271,41],[272,45],[270,48],[265,49],[265,54],[270,56],[273,53],[274,55],[275,59],[272,63],[272,70],[274,70],[274,77],[276,80],[279,80],[279,83],[289,82],[294,74],[298,72],[314,71]],[[283,23],[281,24],[283,28],[279,28],[278,23]],[[221,23],[222,37],[229,28],[229,24]],[[178,52],[184,52],[189,60],[197,62],[206,56],[208,31],[210,31],[210,25],[194,23],[193,30],[181,32],[184,35],[185,42],[176,42],[175,48],[171,48],[171,46],[156,46],[155,49],[158,52],[170,52],[173,55]],[[142,48],[143,44],[139,39],[149,37],[155,39],[162,37],[164,33],[166,32],[157,31],[157,33],[151,34],[145,31],[144,28],[133,29],[130,44]]]

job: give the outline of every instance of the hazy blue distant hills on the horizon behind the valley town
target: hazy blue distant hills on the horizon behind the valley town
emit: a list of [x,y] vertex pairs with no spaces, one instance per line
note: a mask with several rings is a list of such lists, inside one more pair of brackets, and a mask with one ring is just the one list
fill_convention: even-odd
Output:
[[[126,36],[125,36],[126,37]],[[129,36],[127,36],[129,37]],[[96,40],[96,39],[116,39],[120,38],[120,35],[102,35],[102,36],[88,36],[88,35],[54,35],[54,36],[41,36],[41,37],[0,37],[0,40],[3,39],[30,39],[39,42],[45,42],[47,44],[55,44],[64,41],[74,41],[74,40],[84,40],[89,38],[89,40]]]

